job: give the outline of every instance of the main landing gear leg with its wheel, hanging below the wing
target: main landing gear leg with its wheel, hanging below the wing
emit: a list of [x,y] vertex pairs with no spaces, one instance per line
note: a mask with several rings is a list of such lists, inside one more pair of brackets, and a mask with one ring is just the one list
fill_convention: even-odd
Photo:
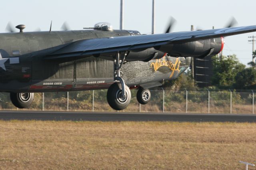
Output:
[[115,110],[125,109],[131,101],[131,91],[121,75],[121,67],[126,55],[127,52],[122,53],[121,57],[119,51],[116,53],[114,61],[114,80],[116,82],[108,88],[107,92],[108,104]]

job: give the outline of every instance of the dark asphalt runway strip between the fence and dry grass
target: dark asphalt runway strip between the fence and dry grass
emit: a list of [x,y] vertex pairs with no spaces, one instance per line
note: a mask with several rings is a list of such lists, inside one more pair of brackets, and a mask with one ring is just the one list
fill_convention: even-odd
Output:
[[128,112],[0,111],[0,120],[256,122],[256,115]]

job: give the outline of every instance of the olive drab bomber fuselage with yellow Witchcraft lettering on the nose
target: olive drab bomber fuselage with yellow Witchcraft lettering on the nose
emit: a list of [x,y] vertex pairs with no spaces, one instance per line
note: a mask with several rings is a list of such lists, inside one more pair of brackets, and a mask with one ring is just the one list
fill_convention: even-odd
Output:
[[[0,34],[0,91],[43,92],[107,89],[114,82],[114,60],[102,56],[47,60],[45,56],[65,44],[84,39],[136,36],[136,31],[79,30]],[[170,57],[156,49],[130,51],[122,65],[129,87],[154,87],[176,79],[191,57]],[[132,61],[152,55],[150,61]],[[157,55],[157,56],[155,56]]]

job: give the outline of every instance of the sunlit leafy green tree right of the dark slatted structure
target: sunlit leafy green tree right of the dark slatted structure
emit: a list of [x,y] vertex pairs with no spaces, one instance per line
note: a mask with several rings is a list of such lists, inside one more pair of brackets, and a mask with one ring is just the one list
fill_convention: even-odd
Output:
[[212,85],[220,89],[232,88],[236,83],[236,74],[245,68],[245,65],[239,62],[236,55],[212,57],[213,60],[213,77]]

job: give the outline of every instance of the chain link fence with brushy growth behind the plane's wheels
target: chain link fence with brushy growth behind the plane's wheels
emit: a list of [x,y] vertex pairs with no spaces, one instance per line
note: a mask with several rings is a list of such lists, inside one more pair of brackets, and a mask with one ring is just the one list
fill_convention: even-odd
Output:
[[[151,101],[140,105],[136,100],[137,90],[132,89],[130,105],[123,112],[254,114],[254,90],[152,88],[150,91]],[[107,90],[35,93],[32,105],[26,110],[116,112],[108,105],[106,93]],[[0,93],[0,108],[17,109],[9,93]]]

